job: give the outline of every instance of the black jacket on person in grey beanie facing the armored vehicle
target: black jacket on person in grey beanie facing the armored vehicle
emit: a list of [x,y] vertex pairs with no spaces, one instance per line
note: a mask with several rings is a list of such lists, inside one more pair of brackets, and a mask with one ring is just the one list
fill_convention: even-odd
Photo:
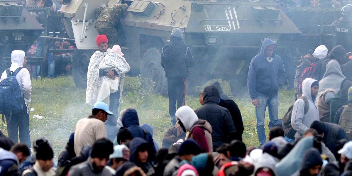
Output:
[[171,37],[161,54],[161,66],[164,68],[165,77],[185,78],[193,64],[194,59],[189,46],[184,44],[181,38]]

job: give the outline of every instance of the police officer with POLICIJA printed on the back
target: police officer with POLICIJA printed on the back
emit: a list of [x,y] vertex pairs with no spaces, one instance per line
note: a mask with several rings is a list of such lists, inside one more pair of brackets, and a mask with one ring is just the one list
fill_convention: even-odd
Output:
[[336,45],[342,45],[347,52],[352,51],[352,5],[341,8],[341,18],[331,25],[335,31]]

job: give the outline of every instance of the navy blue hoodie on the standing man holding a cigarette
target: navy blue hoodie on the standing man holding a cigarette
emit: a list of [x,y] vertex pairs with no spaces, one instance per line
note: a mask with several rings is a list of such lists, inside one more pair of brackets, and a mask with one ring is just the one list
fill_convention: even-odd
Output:
[[265,48],[275,45],[269,38],[263,41],[260,53],[253,57],[248,71],[248,90],[252,100],[258,99],[258,94],[274,95],[278,92],[279,86],[286,80],[286,71],[281,58],[274,53],[272,62],[265,57]]

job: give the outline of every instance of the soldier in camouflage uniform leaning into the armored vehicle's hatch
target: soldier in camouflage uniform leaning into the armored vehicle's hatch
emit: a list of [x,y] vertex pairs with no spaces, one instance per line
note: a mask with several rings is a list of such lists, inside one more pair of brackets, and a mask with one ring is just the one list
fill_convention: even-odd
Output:
[[99,34],[105,34],[109,40],[110,48],[113,45],[121,45],[124,43],[124,34],[119,29],[120,19],[127,15],[127,4],[119,4],[114,6],[106,6],[98,15],[95,28]]

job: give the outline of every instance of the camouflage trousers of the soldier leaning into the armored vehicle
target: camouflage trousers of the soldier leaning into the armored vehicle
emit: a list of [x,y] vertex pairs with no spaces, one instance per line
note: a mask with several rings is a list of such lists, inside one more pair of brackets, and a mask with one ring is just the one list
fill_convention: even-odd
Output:
[[116,30],[115,26],[112,25],[110,22],[98,21],[95,23],[95,28],[99,34],[106,35],[109,40],[109,48],[112,48],[112,46],[114,45],[121,46],[124,36],[121,35],[121,32]]

